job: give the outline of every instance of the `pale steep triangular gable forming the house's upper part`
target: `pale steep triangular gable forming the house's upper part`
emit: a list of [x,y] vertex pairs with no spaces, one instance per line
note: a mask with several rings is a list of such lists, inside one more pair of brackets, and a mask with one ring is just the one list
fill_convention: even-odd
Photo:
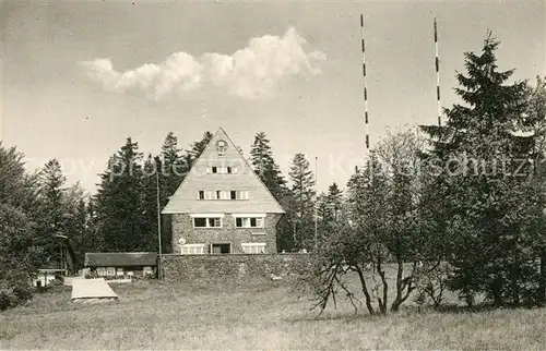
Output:
[[[217,143],[227,143],[225,155],[218,155]],[[237,174],[207,173],[210,167],[237,167]],[[199,199],[199,191],[248,191],[249,199]],[[256,174],[250,164],[221,128],[211,138],[191,170],[169,198],[163,214],[284,214],[284,209]]]

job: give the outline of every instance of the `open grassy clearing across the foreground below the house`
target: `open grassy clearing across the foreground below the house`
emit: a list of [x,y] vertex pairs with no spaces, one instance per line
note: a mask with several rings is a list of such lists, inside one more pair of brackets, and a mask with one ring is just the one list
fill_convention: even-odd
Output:
[[286,281],[114,290],[116,303],[73,305],[67,290],[0,314],[0,349],[546,349],[545,310],[318,316]]

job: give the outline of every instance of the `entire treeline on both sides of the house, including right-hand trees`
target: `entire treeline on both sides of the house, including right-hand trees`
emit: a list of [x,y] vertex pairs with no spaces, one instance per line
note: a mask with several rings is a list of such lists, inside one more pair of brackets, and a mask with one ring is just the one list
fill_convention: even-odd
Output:
[[[265,133],[256,134],[249,160],[286,210],[277,250],[312,253],[305,281],[318,307],[342,291],[384,314],[408,299],[439,306],[446,290],[468,305],[544,305],[546,84],[510,83],[498,45],[488,37],[479,55],[465,53],[455,88],[463,102],[444,109],[441,126],[388,133],[345,190],[317,194],[304,154],[282,174]],[[28,173],[23,155],[0,145],[0,306],[28,298],[22,277],[58,266],[56,234],[70,237],[80,262],[91,251],[157,251],[156,182],[163,208],[211,137],[183,150],[169,133],[159,155],[145,156],[128,138],[93,196],[67,187],[55,159]]]

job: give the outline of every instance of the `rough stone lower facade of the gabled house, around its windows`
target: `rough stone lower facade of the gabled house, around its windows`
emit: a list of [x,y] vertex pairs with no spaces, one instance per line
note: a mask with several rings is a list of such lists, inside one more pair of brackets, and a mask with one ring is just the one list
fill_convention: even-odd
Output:
[[[232,243],[234,254],[242,254],[241,243],[264,242],[265,254],[276,253],[276,225],[281,219],[280,214],[268,214],[264,228],[236,228],[235,218],[226,214],[222,218],[222,228],[193,228],[193,221],[188,214],[171,216],[173,252],[179,254],[178,240],[183,238],[187,244],[206,244],[206,253],[211,243]],[[256,234],[256,233],[263,233]]]

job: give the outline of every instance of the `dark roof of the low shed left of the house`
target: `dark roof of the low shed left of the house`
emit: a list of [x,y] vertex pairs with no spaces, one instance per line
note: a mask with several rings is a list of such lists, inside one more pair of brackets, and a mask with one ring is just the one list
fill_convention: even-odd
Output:
[[108,252],[85,254],[85,267],[155,266],[156,264],[157,253],[155,252]]

